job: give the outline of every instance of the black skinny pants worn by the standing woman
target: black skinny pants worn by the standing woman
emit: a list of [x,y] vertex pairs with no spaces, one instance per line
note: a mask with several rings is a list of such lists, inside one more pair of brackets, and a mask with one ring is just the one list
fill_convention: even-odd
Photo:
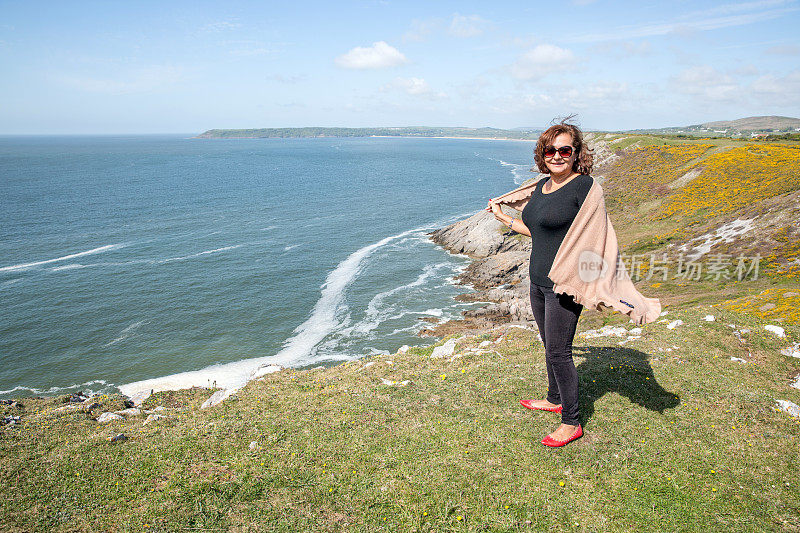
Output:
[[578,425],[578,371],[572,339],[583,306],[572,296],[531,283],[531,308],[542,336],[547,365],[547,401],[561,404],[561,422]]

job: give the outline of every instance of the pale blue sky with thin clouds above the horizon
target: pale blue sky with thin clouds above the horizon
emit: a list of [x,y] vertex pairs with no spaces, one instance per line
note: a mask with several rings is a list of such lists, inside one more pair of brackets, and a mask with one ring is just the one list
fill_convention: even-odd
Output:
[[0,0],[0,134],[800,117],[800,0]]

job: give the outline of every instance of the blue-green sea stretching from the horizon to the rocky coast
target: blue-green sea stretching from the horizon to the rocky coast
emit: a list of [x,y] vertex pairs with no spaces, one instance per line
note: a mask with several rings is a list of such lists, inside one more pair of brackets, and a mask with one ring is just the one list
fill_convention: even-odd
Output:
[[533,144],[0,137],[0,398],[239,387],[430,344],[468,258],[429,240]]

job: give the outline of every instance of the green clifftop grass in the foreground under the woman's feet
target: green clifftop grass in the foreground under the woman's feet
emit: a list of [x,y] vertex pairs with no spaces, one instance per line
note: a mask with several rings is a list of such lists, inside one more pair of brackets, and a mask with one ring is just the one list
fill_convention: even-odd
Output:
[[[717,316],[705,322],[706,313]],[[587,314],[579,331],[624,317]],[[680,318],[673,330],[664,321]],[[0,430],[8,531],[800,530],[800,362],[761,319],[694,307],[641,339],[575,341],[586,435],[539,440],[557,415],[521,408],[546,387],[541,343],[498,328],[432,348],[210,391],[160,393],[168,418],[99,425],[25,401]],[[742,344],[727,324],[742,334]],[[630,327],[630,325],[626,326]],[[786,326],[797,339],[800,330]],[[480,343],[492,341],[490,349]],[[731,356],[747,363],[731,361]],[[367,362],[375,364],[365,366]],[[391,361],[391,364],[389,363]],[[406,387],[379,378],[411,380]],[[101,410],[121,399],[100,398]],[[8,407],[6,410],[10,409]],[[123,432],[130,438],[110,443]],[[250,443],[257,447],[250,449]]]

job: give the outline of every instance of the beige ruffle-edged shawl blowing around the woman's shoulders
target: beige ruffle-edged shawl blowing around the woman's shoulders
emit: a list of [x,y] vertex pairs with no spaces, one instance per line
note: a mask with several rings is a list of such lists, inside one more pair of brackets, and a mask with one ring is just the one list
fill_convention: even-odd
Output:
[[[492,203],[522,211],[535,187],[536,182],[523,185]],[[548,277],[553,292],[569,294],[587,308],[611,307],[636,324],[653,322],[661,313],[658,298],[642,296],[628,276],[597,180],[561,242]]]

